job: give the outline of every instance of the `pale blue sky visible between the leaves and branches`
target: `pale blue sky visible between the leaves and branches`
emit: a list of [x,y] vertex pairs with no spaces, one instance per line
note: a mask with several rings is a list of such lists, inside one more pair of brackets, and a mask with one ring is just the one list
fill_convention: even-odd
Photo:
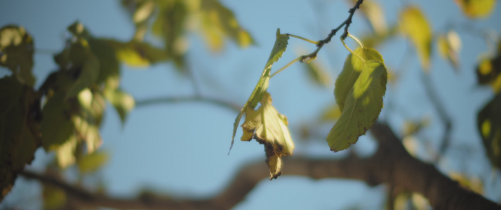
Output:
[[[203,95],[227,99],[241,105],[258,81],[274,43],[276,28],[280,28],[282,33],[319,40],[325,38],[330,29],[337,27],[347,18],[349,8],[345,1],[327,0],[222,2],[234,11],[241,25],[250,31],[257,44],[241,49],[233,43],[227,43],[222,53],[213,55],[198,34],[190,34],[189,65],[202,87]],[[497,32],[501,28],[496,22],[501,20],[499,3],[490,18],[472,21],[462,15],[453,1],[378,2],[385,8],[389,23],[396,22],[398,12],[403,6],[417,3],[428,20],[432,20],[432,27],[436,32],[445,31],[444,27],[450,22],[467,23],[478,28],[490,27]],[[75,20],[86,25],[94,36],[121,41],[127,41],[133,36],[133,25],[119,7],[119,1],[0,2],[0,25],[22,25],[34,37],[37,52],[33,71],[37,85],[57,68],[51,52],[62,50],[64,39],[68,36],[66,27]],[[361,36],[368,30],[368,25],[357,12],[350,32]],[[490,99],[492,93],[486,88],[476,87],[474,66],[478,55],[486,52],[488,45],[481,38],[465,31],[459,31],[459,34],[463,43],[460,52],[462,69],[459,73],[455,73],[448,63],[439,58],[436,48],[432,57],[430,76],[437,94],[443,99],[449,115],[453,117],[455,126],[450,151],[459,151],[446,154],[446,158],[439,162],[439,167],[444,172],[462,170],[468,174],[485,176],[490,172],[490,166],[483,155],[483,147],[476,132],[476,111]],[[432,119],[431,128],[420,136],[423,140],[419,145],[420,148],[425,148],[426,144],[436,146],[443,132],[441,124],[434,117],[436,113],[422,87],[422,73],[415,55],[404,63],[405,68],[398,69],[402,55],[408,48],[413,50],[413,47],[407,45],[401,36],[397,37],[399,38],[395,41],[380,48],[389,68],[396,71],[405,69],[399,87],[387,92],[385,103],[389,99],[393,100],[395,106],[401,109],[399,113],[405,114],[394,112],[387,120],[398,129],[406,118],[417,120],[429,116]],[[355,48],[354,43],[349,42],[349,45]],[[290,39],[287,51],[274,65],[274,69],[297,57],[300,50],[312,51],[314,45]],[[318,62],[329,69],[333,81],[342,69],[347,54],[338,37],[333,38],[333,41],[321,50]],[[194,94],[189,80],[175,72],[172,64],[156,64],[148,69],[131,69],[124,65],[122,67],[121,85],[135,99]],[[6,70],[0,69],[0,73],[1,71]],[[314,120],[320,110],[335,103],[333,83],[328,88],[312,85],[301,64],[294,64],[272,78],[269,92],[276,109],[288,117],[293,138],[298,137],[295,130],[303,122]],[[159,104],[135,109],[122,127],[119,116],[109,107],[101,128],[104,139],[102,148],[111,154],[111,159],[101,172],[108,192],[117,196],[133,196],[138,190],[149,187],[175,193],[175,196],[179,197],[206,197],[217,194],[246,162],[262,160],[265,164],[262,146],[255,141],[236,141],[232,152],[227,155],[235,116],[234,111],[211,104]],[[325,134],[328,129],[327,127]],[[236,139],[240,135],[241,132],[237,132]],[[295,142],[295,155],[340,158],[347,153],[330,152],[323,139],[307,143],[298,140]],[[471,151],[468,153],[469,159],[459,159],[467,163],[462,165],[456,160],[463,156],[461,148],[464,146]],[[375,148],[369,137],[361,137],[354,147],[362,153]],[[37,151],[32,169],[41,169],[44,160],[50,157],[51,155],[42,150]],[[287,166],[284,167],[283,176],[274,181],[261,181],[236,209],[383,207],[384,186],[369,188],[359,181],[314,181],[298,176],[286,176]],[[501,195],[495,193],[494,185],[487,180],[486,191],[490,193],[488,196],[500,200]],[[37,185],[33,182],[18,181],[6,201],[29,199],[32,194],[23,195],[22,191],[30,189],[30,186]]]

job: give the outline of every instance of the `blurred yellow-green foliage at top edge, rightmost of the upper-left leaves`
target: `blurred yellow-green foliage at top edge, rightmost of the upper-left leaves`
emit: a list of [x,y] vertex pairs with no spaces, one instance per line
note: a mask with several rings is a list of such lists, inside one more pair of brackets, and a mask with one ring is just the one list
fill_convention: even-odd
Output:
[[201,1],[200,18],[204,38],[212,50],[220,50],[225,37],[231,38],[242,48],[254,43],[248,31],[240,27],[232,11],[217,0]]

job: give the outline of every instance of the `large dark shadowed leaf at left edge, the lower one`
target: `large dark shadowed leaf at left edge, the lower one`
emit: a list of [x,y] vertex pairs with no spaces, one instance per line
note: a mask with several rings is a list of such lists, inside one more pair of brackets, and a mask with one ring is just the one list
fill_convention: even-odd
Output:
[[40,145],[35,93],[15,76],[0,79],[0,202]]

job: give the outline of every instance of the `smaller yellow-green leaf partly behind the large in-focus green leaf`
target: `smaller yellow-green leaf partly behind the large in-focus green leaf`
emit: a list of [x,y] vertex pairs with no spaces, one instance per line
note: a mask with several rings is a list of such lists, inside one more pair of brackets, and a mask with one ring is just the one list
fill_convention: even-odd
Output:
[[[353,52],[359,55],[365,60],[375,59],[383,62],[382,56],[377,50],[373,48],[356,48]],[[338,78],[335,80],[334,96],[335,101],[338,103],[340,111],[345,108],[345,100],[347,95],[351,91],[355,81],[359,78],[360,72],[363,69],[365,63],[358,56],[352,55],[351,53],[345,60],[345,65],[342,66],[342,71]]]

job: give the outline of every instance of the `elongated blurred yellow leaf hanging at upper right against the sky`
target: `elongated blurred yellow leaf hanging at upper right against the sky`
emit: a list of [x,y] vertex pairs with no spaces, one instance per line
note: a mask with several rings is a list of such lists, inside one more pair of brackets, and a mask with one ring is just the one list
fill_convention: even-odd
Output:
[[425,15],[417,6],[408,6],[400,13],[401,29],[417,50],[421,66],[429,70],[430,55],[432,54],[432,27]]

